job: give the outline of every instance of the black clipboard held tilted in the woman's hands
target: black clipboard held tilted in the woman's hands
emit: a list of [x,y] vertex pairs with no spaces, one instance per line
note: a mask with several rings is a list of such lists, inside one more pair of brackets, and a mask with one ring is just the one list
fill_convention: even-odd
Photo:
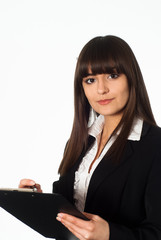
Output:
[[57,240],[76,240],[56,216],[59,212],[88,220],[60,194],[0,190],[0,207],[42,234]]

